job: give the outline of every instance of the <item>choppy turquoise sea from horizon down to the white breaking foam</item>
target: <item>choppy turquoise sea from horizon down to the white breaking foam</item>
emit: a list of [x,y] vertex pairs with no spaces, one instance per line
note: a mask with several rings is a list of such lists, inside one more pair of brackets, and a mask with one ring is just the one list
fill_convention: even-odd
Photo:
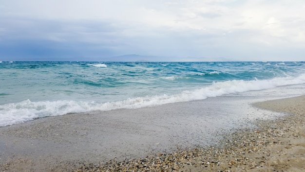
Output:
[[304,94],[305,62],[0,61],[0,127],[275,88]]

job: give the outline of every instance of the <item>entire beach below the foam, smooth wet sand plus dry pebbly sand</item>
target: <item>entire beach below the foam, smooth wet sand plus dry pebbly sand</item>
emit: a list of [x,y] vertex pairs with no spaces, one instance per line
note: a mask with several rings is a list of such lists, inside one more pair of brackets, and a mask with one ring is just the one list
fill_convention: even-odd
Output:
[[[215,108],[212,102],[67,114],[2,127],[0,171],[305,171],[305,96],[254,104],[267,110],[251,108],[249,114],[286,115],[256,119],[243,129],[231,127],[238,120],[210,122],[208,112],[202,118]],[[224,125],[231,130],[215,127]]]

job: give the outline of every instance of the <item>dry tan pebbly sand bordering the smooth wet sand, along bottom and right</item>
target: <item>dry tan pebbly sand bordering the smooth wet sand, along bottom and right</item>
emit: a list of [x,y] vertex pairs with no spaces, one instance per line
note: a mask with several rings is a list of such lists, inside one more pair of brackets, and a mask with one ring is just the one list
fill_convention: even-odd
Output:
[[[220,134],[210,147],[176,149],[143,158],[106,163],[57,162],[53,172],[305,172],[305,96],[254,104],[285,112],[270,120],[256,120],[253,128]],[[24,158],[24,159],[23,159]],[[1,163],[1,172],[35,171],[25,157]],[[20,167],[22,166],[22,167]]]

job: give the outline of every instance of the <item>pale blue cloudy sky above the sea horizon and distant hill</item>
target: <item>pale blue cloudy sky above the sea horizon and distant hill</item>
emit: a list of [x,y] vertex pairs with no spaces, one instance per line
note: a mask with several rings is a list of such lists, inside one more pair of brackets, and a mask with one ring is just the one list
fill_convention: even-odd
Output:
[[305,0],[0,0],[0,61],[128,54],[305,61]]

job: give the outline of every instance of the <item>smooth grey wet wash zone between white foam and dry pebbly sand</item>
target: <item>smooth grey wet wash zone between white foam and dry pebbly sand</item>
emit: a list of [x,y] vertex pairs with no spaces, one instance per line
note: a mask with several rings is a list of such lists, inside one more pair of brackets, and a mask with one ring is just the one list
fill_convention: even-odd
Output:
[[305,85],[228,94],[136,109],[46,117],[0,128],[0,153],[48,162],[106,162],[217,144],[217,133],[250,128],[283,113],[252,103],[305,94]]

